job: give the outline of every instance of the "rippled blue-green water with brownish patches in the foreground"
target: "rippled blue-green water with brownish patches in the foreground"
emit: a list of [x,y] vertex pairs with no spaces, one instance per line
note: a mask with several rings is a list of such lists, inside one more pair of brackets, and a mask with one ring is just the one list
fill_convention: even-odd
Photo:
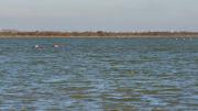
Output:
[[0,38],[0,110],[197,107],[198,38]]

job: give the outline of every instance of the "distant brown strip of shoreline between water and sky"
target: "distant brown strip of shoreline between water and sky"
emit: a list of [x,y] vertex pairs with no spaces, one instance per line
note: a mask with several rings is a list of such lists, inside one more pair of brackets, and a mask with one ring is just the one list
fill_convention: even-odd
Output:
[[198,37],[198,32],[53,32],[1,31],[0,37]]

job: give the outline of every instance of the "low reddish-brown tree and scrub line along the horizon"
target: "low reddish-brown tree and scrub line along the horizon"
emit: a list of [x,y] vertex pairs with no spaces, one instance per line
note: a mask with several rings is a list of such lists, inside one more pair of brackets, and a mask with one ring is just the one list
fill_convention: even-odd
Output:
[[1,31],[0,35],[12,36],[158,36],[158,35],[198,35],[198,32],[55,32],[55,31]]

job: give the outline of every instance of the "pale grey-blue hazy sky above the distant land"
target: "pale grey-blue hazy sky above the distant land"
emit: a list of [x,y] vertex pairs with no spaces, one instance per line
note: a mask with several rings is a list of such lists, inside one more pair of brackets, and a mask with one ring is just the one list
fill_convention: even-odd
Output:
[[198,0],[0,0],[0,29],[198,31]]

